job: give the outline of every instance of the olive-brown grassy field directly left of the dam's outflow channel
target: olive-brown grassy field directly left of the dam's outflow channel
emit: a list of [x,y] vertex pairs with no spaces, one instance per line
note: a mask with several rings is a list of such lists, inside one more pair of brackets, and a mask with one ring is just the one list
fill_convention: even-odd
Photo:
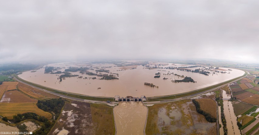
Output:
[[102,104],[90,104],[90,106],[95,134],[115,134],[113,108]]

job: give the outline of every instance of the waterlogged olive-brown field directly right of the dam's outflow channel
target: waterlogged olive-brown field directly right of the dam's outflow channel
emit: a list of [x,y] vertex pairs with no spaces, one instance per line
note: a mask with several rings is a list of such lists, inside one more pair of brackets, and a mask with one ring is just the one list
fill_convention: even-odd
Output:
[[216,123],[206,121],[205,117],[196,111],[191,100],[155,104],[148,108],[145,129],[147,135],[217,134]]

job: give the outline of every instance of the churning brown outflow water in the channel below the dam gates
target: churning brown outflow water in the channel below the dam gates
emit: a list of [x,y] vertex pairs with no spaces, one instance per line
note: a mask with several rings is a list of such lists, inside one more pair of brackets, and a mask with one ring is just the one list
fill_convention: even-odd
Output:
[[116,134],[143,135],[147,107],[141,102],[120,102],[114,109]]

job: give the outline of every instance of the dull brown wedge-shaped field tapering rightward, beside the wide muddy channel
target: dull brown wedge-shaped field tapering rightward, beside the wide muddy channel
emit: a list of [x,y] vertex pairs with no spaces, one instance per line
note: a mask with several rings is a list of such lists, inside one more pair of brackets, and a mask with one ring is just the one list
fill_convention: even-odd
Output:
[[235,115],[238,116],[245,111],[251,109],[253,106],[247,103],[239,102],[239,101],[233,101],[233,107]]

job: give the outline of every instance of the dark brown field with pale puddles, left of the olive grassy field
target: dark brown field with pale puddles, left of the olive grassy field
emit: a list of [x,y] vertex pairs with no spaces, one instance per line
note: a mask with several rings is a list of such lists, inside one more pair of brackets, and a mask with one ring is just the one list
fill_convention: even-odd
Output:
[[95,134],[90,104],[79,101],[65,103],[64,109],[49,135],[61,134],[62,130],[69,131],[68,135]]

